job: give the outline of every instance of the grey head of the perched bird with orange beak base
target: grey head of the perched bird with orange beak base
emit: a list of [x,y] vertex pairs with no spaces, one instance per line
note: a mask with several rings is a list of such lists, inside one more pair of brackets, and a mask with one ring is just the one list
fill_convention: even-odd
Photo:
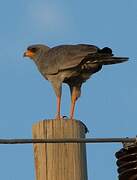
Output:
[[38,61],[41,55],[46,53],[49,49],[50,48],[46,45],[41,45],[41,44],[31,45],[24,52],[23,56],[29,57],[33,59],[34,61]]

